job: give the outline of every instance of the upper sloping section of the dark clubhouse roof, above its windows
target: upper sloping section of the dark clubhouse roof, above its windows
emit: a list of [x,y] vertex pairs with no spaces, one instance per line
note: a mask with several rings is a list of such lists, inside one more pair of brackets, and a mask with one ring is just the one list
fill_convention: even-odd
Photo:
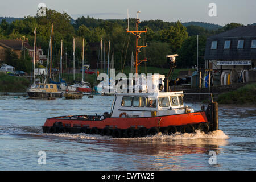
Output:
[[222,32],[217,35],[210,36],[208,39],[212,38],[238,38],[238,37],[255,37],[256,36],[256,26],[241,26],[237,28],[233,28],[232,30],[228,30]]

